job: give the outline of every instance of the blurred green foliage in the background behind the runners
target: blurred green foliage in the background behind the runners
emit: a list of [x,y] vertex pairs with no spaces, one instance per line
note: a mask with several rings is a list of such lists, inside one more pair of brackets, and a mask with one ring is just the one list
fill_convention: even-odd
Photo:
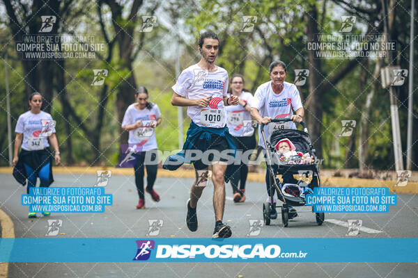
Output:
[[[195,63],[200,57],[196,56],[196,39],[204,30],[212,30],[217,33],[221,40],[222,49],[220,49],[217,64],[226,68],[229,74],[240,73],[245,76],[245,87],[256,89],[258,85],[270,80],[268,76],[268,66],[272,60],[283,60],[288,64],[288,78],[286,81],[293,82],[295,73],[293,70],[307,68],[309,61],[307,59],[307,26],[306,12],[311,8],[318,10],[318,20],[324,23],[320,28],[320,33],[336,33],[341,27],[340,15],[336,14],[336,5],[334,1],[327,2],[327,13],[322,14],[323,3],[325,1],[303,1],[297,2],[293,0],[269,1],[257,0],[242,3],[240,0],[201,0],[196,5],[195,2],[188,5],[183,1],[173,1],[178,7],[176,13],[178,15],[187,15],[180,19],[172,19],[173,22],[179,21],[183,23],[180,30],[182,44],[189,44],[193,51],[181,54],[182,70],[192,63]],[[376,4],[373,1],[371,6]],[[131,5],[131,1],[125,3]],[[93,5],[93,4],[92,4]],[[408,3],[409,5],[409,3]],[[405,6],[408,8],[408,6]],[[167,10],[162,8],[160,13],[167,15]],[[103,6],[104,26],[106,26],[109,39],[115,35],[113,22],[109,15],[109,7]],[[77,35],[94,35],[95,42],[104,42],[98,17],[95,14],[95,8],[91,9],[92,15],[78,15],[74,20],[79,23],[78,29],[83,33]],[[123,14],[125,17],[125,13]],[[161,17],[164,17],[162,15]],[[254,31],[245,33],[240,32],[242,28],[242,16],[251,15],[257,17],[254,24]],[[408,13],[400,8],[396,8],[396,25],[409,28]],[[160,15],[159,22],[160,22]],[[38,20],[38,19],[37,19]],[[357,17],[359,24],[366,22],[364,19]],[[123,28],[129,28],[134,32],[134,43],[137,46],[137,38],[140,33],[137,32],[141,20],[137,19],[137,24],[128,22],[123,17],[117,17],[116,23]],[[372,22],[373,24],[373,22]],[[176,82],[174,72],[174,59],[179,55],[174,49],[176,47],[176,30],[163,28],[164,24],[159,23],[155,26],[150,34],[146,34],[144,41],[144,50],[139,52],[139,56],[132,63],[133,72],[128,69],[127,63],[120,60],[119,45],[114,45],[114,58],[110,63],[106,63],[100,59],[96,60],[66,60],[65,61],[65,86],[67,97],[75,108],[75,112],[86,124],[88,130],[93,130],[98,122],[98,104],[102,86],[91,86],[93,81],[93,69],[107,69],[109,71],[104,84],[107,85],[107,105],[104,109],[104,126],[100,133],[100,151],[103,153],[100,157],[101,163],[105,165],[116,165],[118,162],[119,137],[121,136],[121,122],[118,120],[116,111],[116,94],[121,90],[122,82],[134,74],[137,85],[144,85],[150,92],[150,101],[160,107],[162,113],[162,124],[156,129],[157,144],[159,149],[173,150],[178,149],[178,108],[171,105],[171,86]],[[357,25],[356,25],[357,26]],[[408,34],[404,30],[396,30],[402,35],[398,35],[398,42],[401,49],[405,49],[408,44]],[[124,32],[124,31],[121,31]],[[361,33],[360,28],[354,28],[353,33]],[[0,28],[2,38],[12,40],[12,35],[8,33],[6,26]],[[177,48],[176,48],[177,49]],[[24,93],[24,70],[20,63],[20,57],[17,57],[13,47],[8,47],[10,67],[10,113],[12,115],[12,129],[14,130],[17,117],[26,111],[26,99]],[[103,57],[105,53],[101,53]],[[418,48],[415,49],[417,56]],[[3,55],[3,54],[2,54]],[[407,68],[407,60],[405,60],[406,51],[399,55],[401,68]],[[406,58],[405,58],[406,57]],[[415,58],[416,59],[416,58]],[[321,60],[322,71],[321,79],[329,79],[335,72],[338,72],[347,60],[323,59]],[[338,137],[341,132],[341,120],[356,120],[357,131],[358,124],[363,113],[364,101],[366,95],[371,90],[371,73],[373,72],[376,60],[370,60],[367,68],[368,81],[364,91],[359,89],[359,79],[362,74],[361,68],[357,67],[353,72],[348,74],[336,87],[324,92],[321,99],[314,99],[323,104],[323,122],[322,135],[323,140],[323,158],[324,167],[343,167],[346,160],[345,154],[348,148],[349,138]],[[0,147],[1,147],[1,165],[6,164],[8,142],[6,138],[6,88],[4,81],[4,67],[0,67]],[[417,79],[415,74],[415,79]],[[415,82],[416,83],[416,82]],[[300,87],[302,100],[307,99],[309,81]],[[404,103],[400,106],[401,132],[403,146],[405,146],[406,132],[406,86],[398,88],[399,101]],[[254,90],[253,94],[254,94]],[[133,93],[133,88],[132,88]],[[415,97],[415,115],[417,114],[417,99]],[[388,169],[393,163],[392,149],[392,126],[390,122],[389,99],[386,90],[378,90],[373,99],[371,106],[371,115],[368,119],[369,124],[369,160],[367,165],[378,169]],[[186,115],[187,108],[183,111],[183,135],[189,126],[189,118]],[[66,142],[68,134],[65,131],[65,124],[70,123],[70,136],[72,140],[72,156],[76,163],[86,161],[89,165],[95,157],[95,151],[91,145],[91,138],[80,129],[78,124],[72,117],[65,118],[62,114],[61,101],[59,96],[55,95],[52,106],[52,117],[56,120],[57,136],[63,153],[63,161],[68,156],[66,150]],[[356,134],[358,136],[358,134]],[[14,133],[13,133],[14,137]],[[416,136],[415,136],[416,137]],[[358,147],[358,137],[355,138],[356,147]],[[336,152],[336,142],[339,143],[339,152]],[[413,140],[415,142],[415,140]],[[405,149],[405,148],[404,148]],[[355,152],[355,160],[358,153]]]

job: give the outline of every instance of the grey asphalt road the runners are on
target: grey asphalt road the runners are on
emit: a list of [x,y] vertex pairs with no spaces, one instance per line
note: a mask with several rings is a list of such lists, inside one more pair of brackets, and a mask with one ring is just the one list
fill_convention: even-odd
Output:
[[[96,177],[88,174],[54,174],[53,186],[93,186]],[[198,205],[199,229],[192,233],[185,225],[185,202],[192,179],[158,178],[155,190],[161,202],[146,195],[146,209],[136,210],[138,197],[132,176],[111,177],[106,193],[114,204],[104,213],[55,213],[49,217],[27,218],[27,207],[20,204],[26,188],[17,186],[11,175],[0,174],[0,208],[13,220],[16,238],[45,238],[47,219],[63,224],[56,237],[143,238],[148,220],[162,220],[162,238],[202,238],[212,236],[214,214],[213,186],[210,183]],[[265,184],[247,183],[247,201],[233,204],[232,190],[226,185],[224,222],[233,228],[233,237],[248,237],[249,220],[262,219]],[[308,207],[309,210],[310,207]],[[304,210],[307,208],[305,207]],[[282,227],[281,220],[263,227],[262,238],[346,238],[347,227],[338,223],[362,220],[357,238],[418,237],[418,197],[398,195],[398,204],[389,213],[327,213],[318,226],[313,213],[300,213]],[[368,231],[368,232],[367,232]],[[374,231],[371,232],[371,231]],[[379,233],[377,231],[380,231]],[[40,250],[42,252],[42,250]],[[64,252],[57,250],[56,252]],[[417,277],[418,263],[10,263],[9,277]]]

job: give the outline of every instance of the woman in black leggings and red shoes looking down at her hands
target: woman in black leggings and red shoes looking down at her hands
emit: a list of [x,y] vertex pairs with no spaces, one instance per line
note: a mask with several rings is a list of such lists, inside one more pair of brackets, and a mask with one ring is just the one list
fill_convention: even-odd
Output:
[[[154,202],[160,202],[160,196],[153,189],[157,179],[157,139],[155,138],[155,127],[161,124],[161,113],[157,104],[148,102],[148,90],[139,87],[135,93],[137,102],[127,107],[123,116],[122,128],[129,131],[127,140],[132,154],[136,159],[134,165],[135,184],[137,186],[139,202],[137,208],[145,208],[144,197],[144,165],[146,167],[146,192],[150,194]],[[148,154],[148,156],[147,156]],[[145,158],[150,158],[146,164]]]

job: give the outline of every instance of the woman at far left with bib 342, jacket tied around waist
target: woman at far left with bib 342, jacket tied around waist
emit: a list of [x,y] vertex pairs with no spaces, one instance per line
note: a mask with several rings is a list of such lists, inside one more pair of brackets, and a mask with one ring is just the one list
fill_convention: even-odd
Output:
[[[15,155],[13,166],[20,169],[28,180],[26,192],[36,186],[36,178],[39,177],[41,187],[49,187],[54,181],[52,177],[52,152],[49,150],[49,142],[54,148],[55,164],[59,165],[59,145],[55,135],[55,123],[49,113],[41,109],[42,96],[39,92],[33,92],[29,97],[30,110],[20,115],[16,124]],[[19,149],[22,150],[19,154]],[[19,154],[19,155],[18,155]],[[15,171],[14,171],[15,172]],[[26,181],[24,181],[26,182]],[[42,211],[44,216],[48,211]],[[36,213],[29,212],[29,218],[36,218]]]

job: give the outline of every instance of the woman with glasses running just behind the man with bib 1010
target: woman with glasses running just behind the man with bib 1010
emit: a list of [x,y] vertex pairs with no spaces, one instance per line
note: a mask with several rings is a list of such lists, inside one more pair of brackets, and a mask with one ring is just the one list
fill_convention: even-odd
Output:
[[[244,77],[241,74],[233,74],[231,79],[230,95],[238,97],[238,106],[226,106],[228,113],[229,133],[234,138],[237,150],[242,154],[249,149],[256,147],[256,136],[254,134],[254,127],[251,123],[251,106],[254,106],[254,97],[249,90],[244,88]],[[231,181],[233,189],[233,202],[244,202],[245,197],[245,182],[247,181],[248,165],[242,162],[240,165],[230,164],[226,168],[226,181]],[[238,183],[240,188],[238,189]]]

